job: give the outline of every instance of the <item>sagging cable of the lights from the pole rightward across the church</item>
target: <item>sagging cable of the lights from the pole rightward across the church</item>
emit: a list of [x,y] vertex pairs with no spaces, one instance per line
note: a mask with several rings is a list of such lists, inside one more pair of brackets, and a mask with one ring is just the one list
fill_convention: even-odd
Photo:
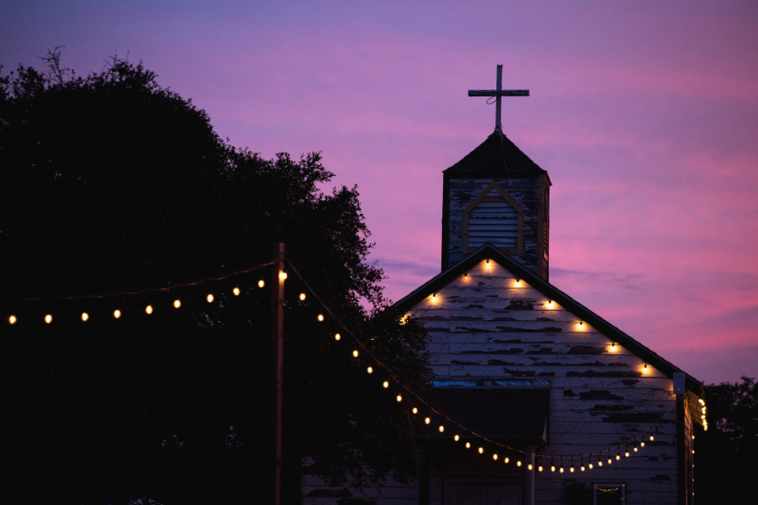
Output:
[[[483,435],[480,435],[480,434],[476,433],[476,431],[474,431],[473,429],[471,429],[471,428],[469,428],[469,427],[466,427],[466,426],[462,425],[462,424],[461,424],[461,423],[459,423],[459,422],[458,422],[456,419],[450,418],[450,417],[449,417],[449,416],[448,416],[446,413],[444,413],[444,412],[441,412],[441,411],[439,411],[438,409],[435,409],[435,408],[433,408],[433,407],[432,407],[432,406],[429,404],[429,402],[427,402],[425,399],[421,398],[421,396],[420,396],[418,393],[416,393],[414,390],[411,390],[411,388],[409,388],[409,387],[408,387],[408,386],[406,386],[404,383],[402,383],[402,381],[400,381],[400,380],[398,379],[397,375],[396,375],[396,374],[393,372],[393,370],[392,370],[392,369],[391,369],[391,368],[390,368],[390,367],[389,367],[387,364],[385,364],[384,362],[382,362],[382,360],[380,360],[378,357],[376,357],[376,355],[375,355],[374,353],[372,353],[372,352],[371,352],[371,350],[365,346],[365,344],[364,344],[364,343],[361,341],[361,339],[360,339],[360,338],[358,338],[358,337],[357,337],[357,336],[356,336],[356,335],[355,335],[355,334],[354,334],[354,333],[353,333],[353,332],[350,330],[350,328],[348,328],[348,327],[347,327],[347,326],[346,326],[346,325],[345,325],[345,324],[342,322],[342,320],[341,320],[339,317],[337,317],[337,315],[336,315],[336,314],[335,314],[335,313],[334,313],[334,312],[331,310],[331,308],[329,308],[329,307],[328,307],[328,304],[327,304],[327,303],[326,303],[326,302],[325,302],[325,301],[324,301],[322,298],[320,298],[320,297],[319,297],[319,294],[318,294],[318,293],[317,293],[317,292],[316,292],[316,291],[315,291],[313,288],[311,288],[311,287],[310,287],[310,284],[308,283],[308,281],[307,281],[307,280],[305,280],[305,278],[302,276],[302,274],[300,274],[300,271],[298,271],[298,270],[297,270],[297,268],[296,268],[296,267],[295,267],[295,266],[292,264],[292,262],[289,260],[289,258],[285,258],[285,261],[286,261],[286,262],[287,262],[287,263],[290,265],[290,267],[291,267],[291,270],[292,270],[292,271],[293,271],[293,272],[294,272],[294,273],[295,273],[295,274],[296,274],[296,275],[297,275],[297,276],[300,278],[300,280],[302,280],[302,282],[303,282],[303,284],[305,285],[305,287],[306,287],[307,289],[309,289],[309,290],[310,290],[310,292],[311,292],[311,294],[313,295],[313,297],[314,297],[314,298],[316,298],[317,300],[319,300],[319,303],[320,303],[320,304],[321,304],[321,306],[324,308],[324,310],[326,310],[326,311],[328,312],[328,315],[329,315],[330,317],[332,317],[332,318],[333,318],[335,321],[337,321],[337,324],[338,324],[339,326],[341,326],[341,327],[342,327],[342,329],[345,331],[345,333],[346,333],[347,335],[350,335],[350,336],[352,336],[352,337],[353,337],[353,339],[356,341],[356,344],[357,344],[357,345],[358,345],[358,346],[359,346],[361,349],[363,349],[363,351],[364,351],[366,354],[368,354],[368,356],[370,356],[370,357],[371,357],[371,359],[373,359],[373,360],[374,360],[374,362],[375,362],[377,365],[381,366],[381,367],[384,369],[384,372],[386,372],[386,373],[387,373],[387,375],[389,375],[389,376],[390,376],[390,377],[393,379],[393,381],[395,381],[397,384],[399,384],[399,385],[400,385],[400,387],[401,387],[403,390],[407,391],[407,392],[408,392],[408,393],[411,395],[411,397],[413,397],[413,398],[417,399],[418,401],[420,401],[420,402],[421,402],[421,404],[423,404],[424,406],[426,406],[426,408],[427,408],[427,409],[429,409],[429,410],[430,410],[430,412],[432,412],[432,413],[436,414],[436,415],[437,415],[437,416],[439,416],[440,418],[444,418],[444,419],[448,420],[448,422],[450,422],[451,424],[453,424],[453,425],[457,426],[457,427],[458,427],[458,428],[460,428],[462,431],[464,431],[464,432],[467,432],[467,433],[468,433],[468,434],[470,434],[471,436],[474,436],[474,437],[476,437],[476,438],[478,438],[478,439],[480,439],[480,440],[482,440],[482,441],[485,441],[486,443],[488,443],[488,444],[490,444],[490,445],[495,445],[495,446],[498,446],[498,447],[503,447],[504,449],[508,449],[508,450],[511,450],[511,451],[513,451],[513,452],[516,452],[516,453],[520,453],[520,454],[527,454],[527,455],[536,455],[536,454],[537,454],[536,452],[532,453],[532,452],[530,452],[530,451],[524,451],[524,450],[522,450],[522,449],[520,449],[520,448],[518,448],[518,447],[513,447],[512,445],[504,445],[504,444],[501,444],[500,442],[495,442],[495,440],[491,440],[491,439],[487,438],[486,436],[483,436]],[[664,418],[666,415],[668,415],[668,414],[669,414],[669,412],[670,412],[672,409],[676,408],[677,404],[678,404],[678,401],[675,401],[675,402],[674,402],[674,405],[672,405],[672,406],[670,407],[670,409],[668,409],[668,410],[666,410],[665,412],[663,412],[663,414],[661,414],[661,417],[659,417],[658,419],[656,419],[656,420],[655,420],[655,421],[652,423],[652,425],[651,425],[651,430],[648,430],[648,431],[643,431],[643,432],[641,432],[641,433],[637,434],[637,435],[634,437],[634,439],[636,439],[636,437],[638,437],[638,436],[644,436],[644,435],[646,435],[646,434],[648,434],[648,433],[651,433],[651,432],[652,432],[652,427],[653,427],[653,426],[655,426],[655,425],[657,425],[657,424],[658,424],[658,422],[659,422],[659,421],[661,421],[661,419],[662,419],[662,418]],[[616,445],[615,447],[616,447],[616,448],[618,448],[618,447],[621,447],[621,446],[629,445],[629,444],[631,444],[631,443],[632,443],[632,441],[630,440],[630,441],[624,442],[623,444],[619,444],[619,445]],[[597,454],[603,454],[603,453],[605,453],[605,452],[610,452],[610,451],[612,451],[612,450],[613,450],[613,447],[612,447],[612,448],[609,448],[609,449],[606,449],[605,451],[600,451],[600,452],[598,452]],[[592,454],[595,454],[595,453],[589,453],[589,454],[578,454],[578,455],[576,455],[576,457],[589,457],[589,456],[590,456],[590,455],[592,455]],[[568,454],[568,455],[567,455],[567,454],[540,454],[540,456],[541,456],[541,457],[561,457],[561,458],[562,458],[562,457],[568,457],[568,456],[570,456],[570,454]]]

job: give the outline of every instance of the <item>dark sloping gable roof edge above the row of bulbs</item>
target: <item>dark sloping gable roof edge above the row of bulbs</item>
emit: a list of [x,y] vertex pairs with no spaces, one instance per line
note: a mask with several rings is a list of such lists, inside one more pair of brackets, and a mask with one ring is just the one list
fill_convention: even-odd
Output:
[[[565,308],[570,313],[576,315],[581,320],[587,322],[591,327],[606,337],[613,339],[617,344],[627,349],[629,352],[650,363],[655,369],[661,371],[668,377],[672,377],[674,372],[683,372],[677,366],[664,360],[657,353],[652,352],[649,348],[634,340],[631,336],[626,335],[619,328],[613,326],[604,318],[596,315],[590,309],[586,308],[578,301],[570,298],[566,293],[551,285],[549,282],[542,280],[532,271],[524,268],[520,263],[515,262],[506,254],[500,252],[494,246],[485,244],[476,250],[475,253],[468,255],[466,258],[448,268],[448,270],[439,273],[436,277],[426,282],[419,289],[414,290],[405,298],[402,298],[394,304],[395,308],[402,311],[408,311],[416,307],[433,293],[439,293],[450,283],[458,280],[467,271],[473,269],[478,263],[485,260],[494,261],[500,264],[505,270],[510,271],[514,276],[526,281],[526,283],[537,291],[541,292],[545,298],[549,298]],[[696,394],[700,394],[702,383],[697,379],[686,374],[686,387],[692,389]]]

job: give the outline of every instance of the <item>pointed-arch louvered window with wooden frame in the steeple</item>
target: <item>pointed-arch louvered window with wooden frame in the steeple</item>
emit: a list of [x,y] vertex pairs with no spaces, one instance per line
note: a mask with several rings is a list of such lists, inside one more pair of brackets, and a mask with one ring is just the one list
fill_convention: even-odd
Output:
[[506,254],[523,252],[523,210],[493,182],[463,211],[463,253],[491,243]]

